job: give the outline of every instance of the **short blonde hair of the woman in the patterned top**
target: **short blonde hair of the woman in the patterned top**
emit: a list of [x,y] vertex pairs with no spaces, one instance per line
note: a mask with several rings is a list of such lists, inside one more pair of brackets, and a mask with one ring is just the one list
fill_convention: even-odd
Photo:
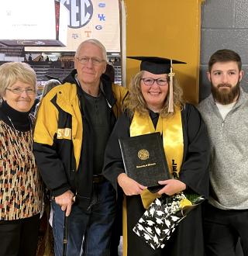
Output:
[[16,81],[32,85],[36,91],[36,72],[29,64],[8,62],[0,66],[0,95],[5,96],[6,88],[12,87]]

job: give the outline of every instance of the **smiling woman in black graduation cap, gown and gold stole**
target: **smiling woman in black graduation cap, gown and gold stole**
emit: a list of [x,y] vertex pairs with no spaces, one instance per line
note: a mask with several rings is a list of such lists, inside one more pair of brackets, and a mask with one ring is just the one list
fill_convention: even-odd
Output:
[[[205,124],[197,109],[184,104],[181,88],[169,82],[174,73],[171,60],[159,57],[133,57],[141,62],[141,71],[129,86],[126,112],[118,119],[105,150],[103,174],[126,202],[123,226],[124,255],[203,255],[201,207],[179,223],[163,249],[153,250],[133,232],[143,216],[146,187],[129,178],[122,162],[119,138],[160,132],[164,142],[171,178],[158,181],[157,195],[182,191],[208,196],[209,144]],[[181,63],[173,61],[174,63]],[[171,70],[171,72],[170,72]],[[171,86],[170,86],[171,85]]]

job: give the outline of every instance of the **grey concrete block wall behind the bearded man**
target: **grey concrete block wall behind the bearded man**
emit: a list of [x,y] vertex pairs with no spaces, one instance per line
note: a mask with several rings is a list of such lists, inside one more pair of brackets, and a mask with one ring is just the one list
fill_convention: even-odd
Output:
[[199,100],[210,93],[206,71],[209,57],[219,49],[235,50],[243,62],[241,82],[248,92],[248,0],[205,0],[202,3]]

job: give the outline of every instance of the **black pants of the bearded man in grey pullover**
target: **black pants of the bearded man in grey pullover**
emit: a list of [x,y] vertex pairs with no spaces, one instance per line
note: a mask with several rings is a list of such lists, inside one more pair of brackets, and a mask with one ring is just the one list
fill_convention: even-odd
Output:
[[206,203],[204,234],[206,256],[235,256],[239,237],[248,256],[248,209],[223,210]]

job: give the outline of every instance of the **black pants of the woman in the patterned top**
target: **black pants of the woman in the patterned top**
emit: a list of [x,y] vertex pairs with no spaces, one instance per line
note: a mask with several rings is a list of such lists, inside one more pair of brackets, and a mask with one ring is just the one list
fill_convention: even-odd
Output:
[[0,256],[35,256],[40,214],[0,221]]

